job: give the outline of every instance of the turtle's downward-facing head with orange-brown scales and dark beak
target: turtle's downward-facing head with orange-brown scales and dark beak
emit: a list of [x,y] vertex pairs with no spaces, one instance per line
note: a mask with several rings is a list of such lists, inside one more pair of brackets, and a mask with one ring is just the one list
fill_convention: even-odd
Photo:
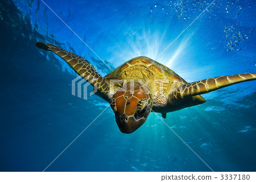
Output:
[[121,88],[110,103],[122,133],[133,133],[146,121],[152,108],[152,95],[141,86]]

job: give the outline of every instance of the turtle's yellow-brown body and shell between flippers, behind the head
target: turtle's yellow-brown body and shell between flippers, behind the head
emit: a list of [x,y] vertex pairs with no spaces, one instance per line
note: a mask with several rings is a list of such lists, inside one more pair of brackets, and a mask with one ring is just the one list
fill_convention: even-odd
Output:
[[[140,80],[142,83],[148,83],[147,87],[154,95],[152,107],[154,112],[167,113],[205,103],[202,96],[196,95],[188,98],[186,104],[180,105],[179,102],[175,102],[175,105],[171,105],[171,102],[168,102],[171,92],[177,87],[187,84],[187,82],[168,67],[148,57],[133,58],[117,67],[104,78],[108,83],[113,79],[124,80],[123,84],[130,80]],[[114,84],[114,86],[117,89],[122,87],[122,84]]]

